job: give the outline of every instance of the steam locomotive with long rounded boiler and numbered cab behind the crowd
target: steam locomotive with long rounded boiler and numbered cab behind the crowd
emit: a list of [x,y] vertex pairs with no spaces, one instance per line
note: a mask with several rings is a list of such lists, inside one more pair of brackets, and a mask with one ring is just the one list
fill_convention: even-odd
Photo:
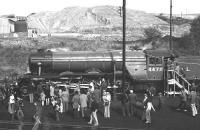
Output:
[[[169,50],[126,51],[126,79],[134,89],[149,85],[161,88],[167,60],[174,54]],[[31,78],[55,80],[82,76],[104,77],[115,84],[122,76],[122,52],[115,51],[38,51],[30,54]]]

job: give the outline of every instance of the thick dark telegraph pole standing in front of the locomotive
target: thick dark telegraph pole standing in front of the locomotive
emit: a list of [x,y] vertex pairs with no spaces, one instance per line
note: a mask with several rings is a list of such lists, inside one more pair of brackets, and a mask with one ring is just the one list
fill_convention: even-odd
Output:
[[126,0],[123,0],[122,6],[123,13],[123,64],[122,64],[122,87],[125,92],[125,63],[126,63]]

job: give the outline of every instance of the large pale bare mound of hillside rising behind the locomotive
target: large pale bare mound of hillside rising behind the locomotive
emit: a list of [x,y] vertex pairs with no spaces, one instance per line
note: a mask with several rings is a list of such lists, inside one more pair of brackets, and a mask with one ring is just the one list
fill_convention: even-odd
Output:
[[[28,17],[30,27],[38,27],[41,32],[66,32],[98,27],[121,27],[122,17],[119,7],[98,6],[93,8],[68,7],[58,12],[41,12]],[[127,10],[128,27],[148,27],[165,24],[164,21],[142,11]],[[38,26],[39,25],[39,26]]]

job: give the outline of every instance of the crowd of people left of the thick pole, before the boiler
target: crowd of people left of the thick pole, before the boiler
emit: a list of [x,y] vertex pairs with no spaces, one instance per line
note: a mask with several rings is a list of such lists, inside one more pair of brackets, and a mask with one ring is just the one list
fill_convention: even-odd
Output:
[[[56,121],[60,121],[61,115],[69,112],[69,109],[72,108],[74,118],[89,116],[88,124],[98,126],[97,111],[100,107],[104,107],[105,118],[110,118],[111,94],[106,91],[106,84],[105,79],[102,79],[98,85],[91,81],[91,87],[73,89],[73,92],[71,92],[70,85],[67,87],[57,87],[56,83],[51,81],[40,82],[37,85],[31,82],[25,90],[28,91],[29,103],[35,105],[33,130],[38,129],[41,123],[41,113],[44,106],[53,108]],[[15,85],[2,86],[0,89],[1,102],[8,106],[8,113],[12,121],[16,115],[18,115],[18,120],[21,122],[24,118],[24,103],[21,93],[17,83]]]

